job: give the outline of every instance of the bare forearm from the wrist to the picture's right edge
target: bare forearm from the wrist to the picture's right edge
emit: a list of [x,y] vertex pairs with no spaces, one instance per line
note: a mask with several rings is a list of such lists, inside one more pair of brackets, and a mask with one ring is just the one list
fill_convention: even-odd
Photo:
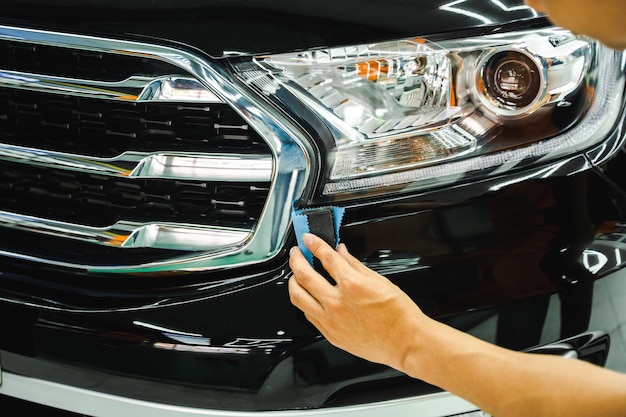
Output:
[[404,372],[498,417],[626,416],[626,377],[582,361],[514,352],[434,321],[406,346]]

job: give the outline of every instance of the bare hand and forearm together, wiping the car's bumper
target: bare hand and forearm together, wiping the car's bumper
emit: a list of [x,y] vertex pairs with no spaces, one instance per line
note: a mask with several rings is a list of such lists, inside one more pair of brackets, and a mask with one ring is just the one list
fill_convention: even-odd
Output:
[[311,234],[303,241],[337,285],[294,248],[291,301],[333,345],[437,385],[498,417],[626,416],[626,375],[476,339],[427,317],[344,245],[335,251]]

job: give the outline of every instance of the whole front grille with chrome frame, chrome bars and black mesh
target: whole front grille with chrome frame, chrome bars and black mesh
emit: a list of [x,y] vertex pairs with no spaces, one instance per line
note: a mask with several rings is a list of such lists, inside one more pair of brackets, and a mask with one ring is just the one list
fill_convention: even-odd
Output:
[[15,239],[0,252],[119,273],[273,257],[309,157],[263,107],[187,51],[0,27],[0,232]]

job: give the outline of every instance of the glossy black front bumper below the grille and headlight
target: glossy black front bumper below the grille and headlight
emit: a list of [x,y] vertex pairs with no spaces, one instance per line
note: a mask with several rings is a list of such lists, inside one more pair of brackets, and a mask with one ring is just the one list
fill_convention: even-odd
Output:
[[[377,204],[376,227],[361,223],[373,220],[371,207],[348,209],[342,236],[370,263],[381,251],[420,257],[420,268],[389,276],[429,314],[470,332],[498,316],[500,331],[491,341],[525,349],[550,341],[540,335],[548,297],[556,292],[563,311],[572,312],[563,315],[557,338],[589,330],[599,275],[585,270],[579,255],[598,225],[619,218],[616,196],[596,174],[584,173],[458,203],[438,203],[436,195],[408,198]],[[399,220],[398,212],[406,217]],[[564,248],[573,252],[563,255]],[[223,409],[320,407],[433,390],[319,339],[289,304],[285,256],[281,262],[266,283],[216,298],[202,300],[202,290],[192,288],[164,290],[161,301],[170,306],[93,313],[4,303],[3,317],[15,319],[2,323],[3,367],[85,388],[97,381],[104,392]],[[3,278],[3,288],[10,288]],[[173,332],[141,323],[204,336],[181,343]]]

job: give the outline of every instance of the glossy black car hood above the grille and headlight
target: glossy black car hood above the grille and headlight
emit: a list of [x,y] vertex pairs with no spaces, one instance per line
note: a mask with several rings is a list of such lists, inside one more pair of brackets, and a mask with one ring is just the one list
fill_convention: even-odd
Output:
[[5,23],[168,39],[219,58],[439,35],[536,17],[522,0],[0,0]]

